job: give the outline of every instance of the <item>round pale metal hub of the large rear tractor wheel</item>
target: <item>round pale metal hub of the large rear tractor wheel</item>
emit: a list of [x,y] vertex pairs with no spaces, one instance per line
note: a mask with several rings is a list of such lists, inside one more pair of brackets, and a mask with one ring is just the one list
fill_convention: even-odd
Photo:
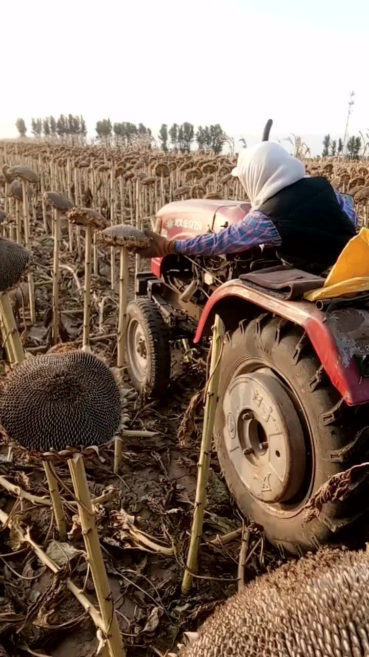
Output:
[[265,368],[234,378],[225,393],[225,442],[244,486],[256,499],[291,499],[303,481],[301,422],[282,383]]

